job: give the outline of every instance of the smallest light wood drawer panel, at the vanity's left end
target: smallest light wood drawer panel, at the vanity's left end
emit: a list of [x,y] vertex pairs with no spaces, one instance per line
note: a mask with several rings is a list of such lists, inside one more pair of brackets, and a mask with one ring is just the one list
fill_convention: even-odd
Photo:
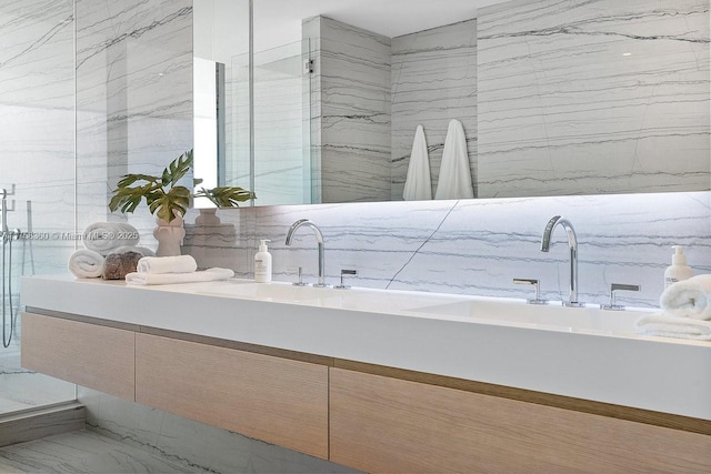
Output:
[[23,313],[21,364],[132,401],[134,337],[131,331]]

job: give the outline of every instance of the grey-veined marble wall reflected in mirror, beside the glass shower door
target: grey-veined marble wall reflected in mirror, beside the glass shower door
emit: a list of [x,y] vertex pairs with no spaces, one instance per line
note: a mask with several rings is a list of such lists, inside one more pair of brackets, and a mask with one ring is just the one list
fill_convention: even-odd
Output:
[[327,17],[306,20],[302,31],[314,48],[314,202],[388,201],[390,38]]

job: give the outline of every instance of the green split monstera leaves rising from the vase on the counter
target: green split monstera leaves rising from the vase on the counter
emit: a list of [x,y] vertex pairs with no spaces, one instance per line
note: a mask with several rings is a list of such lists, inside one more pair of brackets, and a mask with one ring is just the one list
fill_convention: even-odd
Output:
[[[113,212],[120,210],[123,213],[133,212],[146,200],[148,210],[158,219],[168,223],[177,216],[182,218],[190,205],[190,190],[178,182],[192,168],[192,150],[184,152],[170,162],[161,175],[126,174],[117,183],[113,196],[109,202],[109,209]],[[200,184],[201,179],[193,180],[193,184]],[[218,208],[237,208],[240,202],[256,199],[257,196],[239,186],[218,186],[212,189],[200,188],[194,198],[207,198]]]

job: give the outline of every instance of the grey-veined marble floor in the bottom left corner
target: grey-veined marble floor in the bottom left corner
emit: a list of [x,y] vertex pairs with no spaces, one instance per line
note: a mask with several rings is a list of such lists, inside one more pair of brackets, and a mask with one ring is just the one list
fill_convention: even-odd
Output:
[[214,473],[120,441],[78,431],[0,447],[0,473]]

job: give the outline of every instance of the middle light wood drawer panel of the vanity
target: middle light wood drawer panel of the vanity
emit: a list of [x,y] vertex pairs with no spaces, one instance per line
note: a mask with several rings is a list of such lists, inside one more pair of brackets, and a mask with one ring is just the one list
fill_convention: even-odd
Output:
[[328,367],[137,334],[136,401],[328,458]]

